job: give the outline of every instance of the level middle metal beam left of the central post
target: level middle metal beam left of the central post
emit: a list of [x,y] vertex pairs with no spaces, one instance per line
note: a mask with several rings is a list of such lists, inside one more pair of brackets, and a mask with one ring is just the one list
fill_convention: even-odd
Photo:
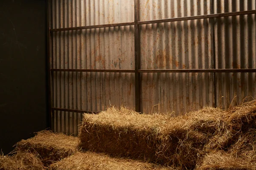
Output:
[[134,73],[134,70],[125,69],[51,69],[51,71],[67,71],[67,72],[102,72],[102,73]]

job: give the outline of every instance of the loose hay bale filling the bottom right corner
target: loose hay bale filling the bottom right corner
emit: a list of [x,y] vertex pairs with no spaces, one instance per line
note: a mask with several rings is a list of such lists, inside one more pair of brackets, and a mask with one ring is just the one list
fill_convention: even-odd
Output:
[[224,150],[214,150],[199,161],[196,170],[256,170],[256,129],[240,133]]

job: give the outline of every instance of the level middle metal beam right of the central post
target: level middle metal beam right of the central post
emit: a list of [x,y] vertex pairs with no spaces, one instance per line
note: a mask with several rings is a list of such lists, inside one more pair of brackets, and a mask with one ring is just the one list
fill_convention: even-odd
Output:
[[256,69],[141,69],[140,73],[256,73]]

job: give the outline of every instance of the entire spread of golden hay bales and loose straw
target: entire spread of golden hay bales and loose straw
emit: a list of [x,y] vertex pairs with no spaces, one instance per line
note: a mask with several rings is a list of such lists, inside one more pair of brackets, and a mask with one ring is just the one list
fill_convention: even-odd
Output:
[[84,114],[79,137],[44,130],[0,170],[255,170],[256,101],[183,116],[110,108]]

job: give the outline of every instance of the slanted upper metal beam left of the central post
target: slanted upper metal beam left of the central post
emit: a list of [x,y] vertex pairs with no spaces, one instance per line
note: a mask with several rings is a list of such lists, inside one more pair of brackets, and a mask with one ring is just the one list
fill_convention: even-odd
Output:
[[133,25],[134,25],[134,22],[131,22],[131,23],[115,23],[115,24],[103,24],[103,25],[96,25],[96,26],[56,28],[56,29],[50,29],[50,31],[51,32],[55,32],[55,31],[71,31],[71,30],[81,30],[81,29],[106,28],[106,27],[115,27],[115,26],[133,26]]

